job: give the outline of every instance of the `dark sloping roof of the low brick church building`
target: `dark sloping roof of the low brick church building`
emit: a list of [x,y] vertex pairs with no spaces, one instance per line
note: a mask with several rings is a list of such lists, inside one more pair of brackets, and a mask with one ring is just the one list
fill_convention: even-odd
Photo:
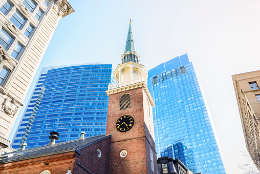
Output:
[[42,156],[44,154],[45,156],[48,156],[51,155],[52,153],[62,153],[63,151],[68,152],[68,151],[77,150],[79,153],[81,153],[80,149],[109,137],[111,137],[111,135],[102,134],[100,136],[94,136],[94,137],[89,137],[84,139],[77,139],[77,140],[72,140],[72,141],[67,141],[62,143],[56,143],[53,145],[40,146],[40,147],[34,147],[25,150],[9,152],[9,153],[2,154],[2,156],[0,157],[1,159],[0,164],[13,161],[13,160],[15,161],[24,160],[25,158],[33,158],[33,157],[37,158],[36,156]]

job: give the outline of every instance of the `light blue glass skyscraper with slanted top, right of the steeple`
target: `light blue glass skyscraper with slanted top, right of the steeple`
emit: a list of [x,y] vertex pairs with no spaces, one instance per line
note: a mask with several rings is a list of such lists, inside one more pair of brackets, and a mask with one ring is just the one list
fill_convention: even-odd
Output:
[[188,55],[148,71],[157,156],[180,159],[192,172],[226,173],[211,119]]

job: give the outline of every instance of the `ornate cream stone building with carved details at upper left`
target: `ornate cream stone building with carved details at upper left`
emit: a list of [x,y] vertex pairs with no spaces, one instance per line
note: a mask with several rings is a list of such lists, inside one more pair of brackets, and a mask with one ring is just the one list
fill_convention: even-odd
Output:
[[67,0],[0,1],[0,154],[60,18],[74,12]]

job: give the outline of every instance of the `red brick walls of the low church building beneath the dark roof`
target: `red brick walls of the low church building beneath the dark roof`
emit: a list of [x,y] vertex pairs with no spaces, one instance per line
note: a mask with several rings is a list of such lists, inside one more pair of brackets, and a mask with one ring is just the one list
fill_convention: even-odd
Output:
[[[39,174],[43,170],[49,170],[51,174],[66,174],[71,168],[72,174],[90,173],[88,170],[93,173],[107,173],[109,144],[110,137],[80,149],[82,154],[63,151],[47,157],[36,156],[34,159],[1,164],[0,171],[10,174]],[[97,156],[97,149],[101,151],[100,158]]]

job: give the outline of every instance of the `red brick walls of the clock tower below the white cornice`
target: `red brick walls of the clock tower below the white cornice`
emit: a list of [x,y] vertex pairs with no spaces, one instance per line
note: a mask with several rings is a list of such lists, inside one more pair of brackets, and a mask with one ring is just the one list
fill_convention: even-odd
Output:
[[[109,173],[157,173],[155,142],[145,130],[143,87],[110,94],[107,111],[106,134],[111,134]],[[119,110],[120,96],[131,94],[131,108]],[[132,129],[119,132],[117,120],[123,115],[131,115],[135,121]],[[150,148],[154,154],[154,171],[151,170]],[[120,157],[120,151],[126,150],[127,156]]]

